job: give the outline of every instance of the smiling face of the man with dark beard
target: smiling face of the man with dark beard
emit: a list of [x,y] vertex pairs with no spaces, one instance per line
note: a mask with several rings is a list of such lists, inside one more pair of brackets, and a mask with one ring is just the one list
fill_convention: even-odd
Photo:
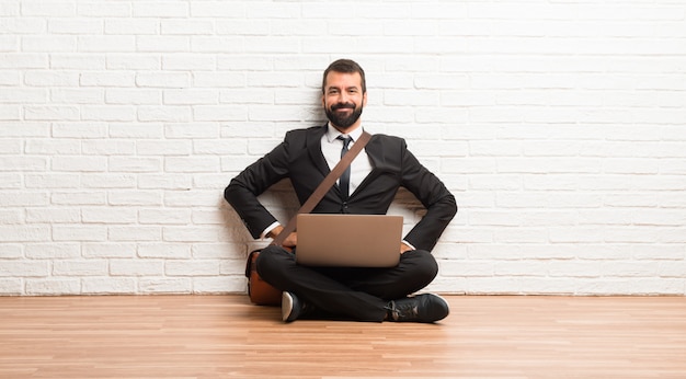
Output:
[[336,129],[345,133],[357,127],[362,122],[362,108],[367,105],[359,73],[329,72],[322,103],[327,117]]

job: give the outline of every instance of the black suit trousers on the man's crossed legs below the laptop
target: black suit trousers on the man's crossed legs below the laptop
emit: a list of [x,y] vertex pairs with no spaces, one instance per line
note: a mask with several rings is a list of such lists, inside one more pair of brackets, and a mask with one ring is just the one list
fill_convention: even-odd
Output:
[[376,322],[384,321],[390,300],[426,287],[438,273],[436,260],[423,250],[400,255],[389,268],[311,267],[297,264],[295,254],[279,246],[267,246],[255,264],[262,279],[323,314]]

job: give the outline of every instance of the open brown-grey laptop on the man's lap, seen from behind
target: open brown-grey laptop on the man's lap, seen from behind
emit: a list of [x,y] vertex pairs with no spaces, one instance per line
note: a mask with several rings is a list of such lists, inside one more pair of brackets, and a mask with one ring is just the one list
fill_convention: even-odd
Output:
[[402,216],[300,214],[296,262],[307,266],[392,267]]

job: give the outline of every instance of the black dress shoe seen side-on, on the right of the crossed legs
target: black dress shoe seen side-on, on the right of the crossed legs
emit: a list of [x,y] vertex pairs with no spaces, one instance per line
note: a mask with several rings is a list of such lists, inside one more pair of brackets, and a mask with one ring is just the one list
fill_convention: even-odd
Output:
[[386,309],[387,320],[397,322],[435,322],[445,319],[450,312],[448,303],[433,294],[393,300]]

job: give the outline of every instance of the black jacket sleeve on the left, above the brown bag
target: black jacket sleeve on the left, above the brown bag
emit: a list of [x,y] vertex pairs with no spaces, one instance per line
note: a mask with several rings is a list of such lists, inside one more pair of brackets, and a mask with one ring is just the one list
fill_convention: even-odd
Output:
[[270,186],[288,176],[288,138],[233,177],[224,197],[236,209],[252,238],[258,239],[276,218],[258,200]]

